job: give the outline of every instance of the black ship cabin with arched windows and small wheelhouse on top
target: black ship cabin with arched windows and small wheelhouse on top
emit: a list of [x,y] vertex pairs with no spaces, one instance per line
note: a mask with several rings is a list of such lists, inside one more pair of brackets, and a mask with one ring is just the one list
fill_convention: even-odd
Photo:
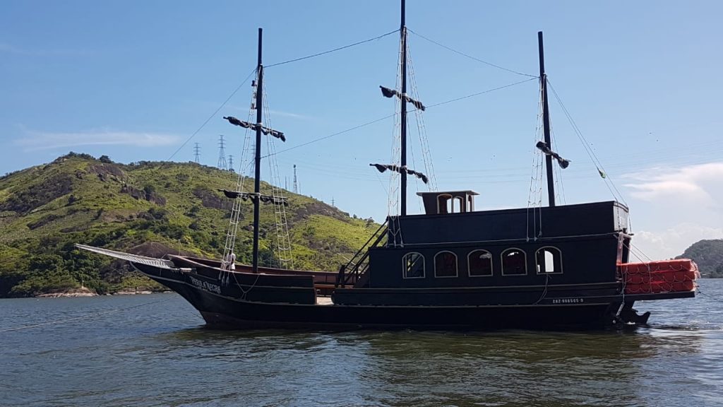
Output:
[[424,214],[388,218],[357,288],[609,283],[628,261],[628,208],[616,201],[475,211],[473,190],[418,195]]

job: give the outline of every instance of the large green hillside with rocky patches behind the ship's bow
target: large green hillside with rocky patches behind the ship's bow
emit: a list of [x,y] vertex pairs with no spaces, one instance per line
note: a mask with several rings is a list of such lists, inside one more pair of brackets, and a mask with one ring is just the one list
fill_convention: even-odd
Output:
[[[126,165],[74,153],[0,177],[0,297],[81,285],[97,293],[159,288],[122,261],[78,251],[74,243],[220,258],[233,201],[218,189],[234,189],[237,177],[190,162]],[[270,194],[264,182],[262,193]],[[379,226],[313,198],[286,196],[296,269],[338,269]],[[247,201],[236,239],[240,262],[251,259],[252,222]],[[274,266],[273,206],[262,205],[261,223],[261,262]]]

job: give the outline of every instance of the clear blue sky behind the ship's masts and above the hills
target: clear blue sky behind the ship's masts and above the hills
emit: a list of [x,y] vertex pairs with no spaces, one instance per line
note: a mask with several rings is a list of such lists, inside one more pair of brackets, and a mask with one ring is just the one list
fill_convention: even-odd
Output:
[[[252,72],[257,28],[270,65],[395,30],[398,8],[379,0],[3,1],[0,174],[68,151],[124,163],[191,161],[194,143],[201,163],[215,165],[221,134],[238,163],[243,132],[221,117],[247,117],[249,84],[211,115]],[[429,106],[529,77],[423,37],[536,75],[536,33],[544,31],[549,80],[630,206],[633,241],[652,258],[723,238],[721,15],[719,1],[407,4],[416,85]],[[397,51],[398,36],[388,35],[269,67],[270,118],[287,136],[277,150],[392,114],[378,86],[395,84]],[[476,190],[478,209],[526,206],[537,99],[532,80],[430,107],[424,122],[438,187]],[[564,202],[612,199],[555,98],[550,109],[557,151],[572,160],[562,172]],[[301,193],[381,220],[388,177],[368,164],[390,160],[392,133],[385,119],[281,152],[281,176],[291,185],[296,164]],[[409,211],[420,211],[416,198]]]

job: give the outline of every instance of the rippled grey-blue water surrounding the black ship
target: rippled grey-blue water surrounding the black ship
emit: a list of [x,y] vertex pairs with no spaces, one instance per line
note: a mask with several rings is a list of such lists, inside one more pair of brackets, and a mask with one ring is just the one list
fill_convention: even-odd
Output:
[[[0,300],[0,406],[723,406],[723,280],[626,332],[215,332],[175,294]],[[127,309],[128,307],[134,307]]]

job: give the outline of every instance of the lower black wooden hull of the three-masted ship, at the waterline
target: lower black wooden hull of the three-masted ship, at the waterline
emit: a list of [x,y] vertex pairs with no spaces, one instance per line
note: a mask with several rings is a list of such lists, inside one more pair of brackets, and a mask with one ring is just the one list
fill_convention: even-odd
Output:
[[[503,303],[496,304],[479,302],[476,305],[455,305],[441,293],[436,297],[428,297],[430,304],[437,302],[434,305],[335,304],[329,301],[330,298],[314,297],[313,301],[305,301],[299,295],[291,295],[291,298],[296,298],[299,302],[283,303],[279,302],[278,298],[289,298],[288,286],[252,286],[234,281],[246,278],[257,280],[254,274],[234,273],[237,275],[229,278],[228,272],[211,267],[198,273],[198,269],[194,272],[179,272],[146,264],[133,265],[148,277],[183,296],[200,312],[208,327],[218,329],[599,329],[615,324],[615,314],[622,304],[630,308],[636,299],[659,299],[660,296],[623,296],[616,295],[615,290],[611,291],[610,288],[578,285],[567,288],[548,287],[547,291],[542,293],[540,290],[544,288],[539,287],[510,289],[505,290],[506,293],[496,290],[500,296],[490,297],[492,302],[505,298]],[[208,274],[212,273],[219,274],[220,278],[208,277]],[[281,284],[286,284],[286,277],[289,277],[266,274],[262,276],[275,278]],[[252,296],[254,291],[256,295]],[[609,291],[611,295],[600,295],[604,291]],[[534,293],[532,301],[530,293]],[[545,294],[542,295],[543,293]],[[312,291],[312,294],[315,292]],[[666,298],[682,298],[692,297],[693,293],[668,295]],[[264,297],[268,300],[263,301]],[[251,301],[252,298],[254,301]],[[366,298],[369,301],[388,302],[380,300],[382,297],[375,293],[367,293]]]

